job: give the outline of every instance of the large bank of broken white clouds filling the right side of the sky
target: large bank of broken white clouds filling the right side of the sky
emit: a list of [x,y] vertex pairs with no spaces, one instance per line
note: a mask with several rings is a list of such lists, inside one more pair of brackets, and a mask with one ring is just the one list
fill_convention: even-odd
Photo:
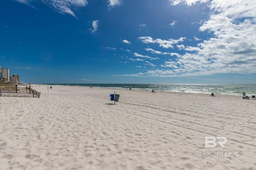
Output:
[[[171,1],[170,1],[171,2]],[[203,0],[175,0],[193,5]],[[196,46],[178,45],[183,39],[161,40],[139,37],[143,43],[158,43],[160,47],[176,47],[187,53],[170,58],[161,64],[163,69],[147,70],[128,76],[200,76],[223,73],[250,74],[256,72],[256,3],[252,0],[212,0],[209,2],[210,16],[202,22],[199,31],[208,32],[211,37],[203,39]],[[194,37],[196,41],[200,40]],[[182,40],[182,41],[181,41]],[[164,54],[153,49],[152,53]],[[120,75],[121,76],[121,75]]]

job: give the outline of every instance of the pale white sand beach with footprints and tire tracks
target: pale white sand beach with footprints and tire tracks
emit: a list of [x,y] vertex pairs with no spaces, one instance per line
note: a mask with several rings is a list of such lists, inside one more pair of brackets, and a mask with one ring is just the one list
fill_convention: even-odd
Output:
[[256,170],[256,100],[242,94],[47,87],[0,97],[1,170]]

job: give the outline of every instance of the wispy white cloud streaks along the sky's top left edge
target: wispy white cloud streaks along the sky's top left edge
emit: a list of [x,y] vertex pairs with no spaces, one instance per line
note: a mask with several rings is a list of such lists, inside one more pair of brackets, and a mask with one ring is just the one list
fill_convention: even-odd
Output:
[[[38,2],[38,0],[16,0],[16,1],[26,4],[27,6],[31,6],[33,8],[34,6],[31,5],[32,2]],[[60,12],[62,14],[64,13],[70,14],[74,17],[76,17],[76,15],[74,14],[72,8],[82,7],[88,4],[87,0],[40,0],[40,1],[43,2],[44,4],[52,6],[54,10],[56,10],[57,12]]]

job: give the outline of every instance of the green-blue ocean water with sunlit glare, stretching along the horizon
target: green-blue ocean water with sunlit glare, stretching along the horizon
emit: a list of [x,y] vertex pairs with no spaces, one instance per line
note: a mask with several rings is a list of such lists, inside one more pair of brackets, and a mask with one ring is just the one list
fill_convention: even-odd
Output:
[[136,90],[162,90],[168,92],[246,95],[256,94],[256,84],[48,84],[60,86],[87,86],[103,88],[124,88]]

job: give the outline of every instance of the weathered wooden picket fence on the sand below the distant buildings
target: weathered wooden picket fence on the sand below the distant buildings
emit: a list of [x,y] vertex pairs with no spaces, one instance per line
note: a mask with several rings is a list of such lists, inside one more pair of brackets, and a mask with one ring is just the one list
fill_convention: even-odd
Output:
[[25,97],[25,98],[40,98],[41,92],[36,90],[31,91],[16,91],[0,88],[0,97]]

